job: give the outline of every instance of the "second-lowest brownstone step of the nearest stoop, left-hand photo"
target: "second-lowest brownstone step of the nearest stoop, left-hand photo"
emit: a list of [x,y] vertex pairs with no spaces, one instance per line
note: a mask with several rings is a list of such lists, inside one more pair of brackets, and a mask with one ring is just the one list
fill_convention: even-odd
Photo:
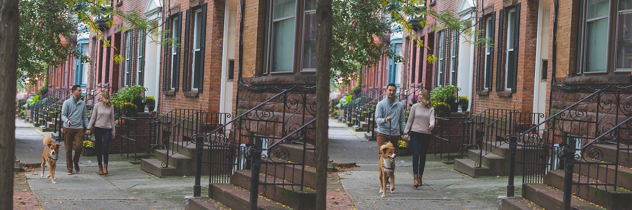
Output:
[[[250,209],[250,192],[232,184],[209,184],[209,197],[232,209]],[[257,207],[259,210],[290,209],[262,196],[258,197]]]

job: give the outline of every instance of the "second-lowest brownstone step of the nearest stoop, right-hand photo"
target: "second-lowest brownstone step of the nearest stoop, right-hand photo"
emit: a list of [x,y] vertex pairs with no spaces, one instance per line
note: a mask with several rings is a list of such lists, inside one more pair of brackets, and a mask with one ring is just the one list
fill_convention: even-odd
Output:
[[[522,184],[522,197],[533,201],[545,209],[564,209],[564,192],[545,184]],[[571,198],[573,210],[604,210],[601,207],[582,201],[576,197]]]

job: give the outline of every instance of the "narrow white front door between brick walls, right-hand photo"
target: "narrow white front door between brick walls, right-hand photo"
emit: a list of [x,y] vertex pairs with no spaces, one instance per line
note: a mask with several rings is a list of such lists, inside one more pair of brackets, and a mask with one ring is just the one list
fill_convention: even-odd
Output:
[[[550,0],[540,1],[538,9],[538,37],[535,47],[535,79],[533,92],[533,112],[545,114],[547,103],[547,76],[549,74],[549,20]],[[540,119],[542,122],[542,119]],[[534,122],[535,123],[535,122]]]

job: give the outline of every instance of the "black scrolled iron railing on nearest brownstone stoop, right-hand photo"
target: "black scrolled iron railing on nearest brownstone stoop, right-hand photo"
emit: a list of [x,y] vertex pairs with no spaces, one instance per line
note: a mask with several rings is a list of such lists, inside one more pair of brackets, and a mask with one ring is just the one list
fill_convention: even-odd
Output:
[[[523,174],[523,183],[542,183],[550,170],[558,169],[566,170],[563,189],[565,209],[570,209],[571,194],[577,193],[573,185],[596,185],[607,190],[617,190],[619,153],[632,150],[631,98],[630,90],[597,90],[563,110],[552,108],[552,115],[548,119],[530,129],[507,135],[506,141],[511,151],[507,196],[514,196],[516,173]],[[609,163],[602,161],[604,153],[595,147],[600,144],[616,147],[614,155],[617,158]],[[518,148],[525,150],[522,152],[523,160],[518,160]],[[520,168],[516,168],[516,165],[520,165]],[[607,173],[610,168],[614,174],[601,177],[597,182],[590,182],[590,178],[582,176],[573,180],[573,173],[581,172],[582,167],[585,170],[593,168],[597,173],[599,168],[602,168],[602,173]]]

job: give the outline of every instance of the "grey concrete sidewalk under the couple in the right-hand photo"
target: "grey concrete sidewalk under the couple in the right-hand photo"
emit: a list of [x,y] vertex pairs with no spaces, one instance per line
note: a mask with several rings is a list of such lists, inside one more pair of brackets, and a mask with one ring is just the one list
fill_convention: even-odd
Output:
[[[507,177],[471,178],[453,165],[427,156],[423,186],[413,187],[412,156],[396,158],[395,192],[380,197],[377,142],[363,132],[329,120],[329,156],[336,163],[359,167],[339,173],[344,190],[357,209],[497,209],[497,198],[506,192]],[[521,177],[516,177],[521,180]],[[520,190],[520,181],[516,188]],[[520,194],[520,192],[518,192]]]

